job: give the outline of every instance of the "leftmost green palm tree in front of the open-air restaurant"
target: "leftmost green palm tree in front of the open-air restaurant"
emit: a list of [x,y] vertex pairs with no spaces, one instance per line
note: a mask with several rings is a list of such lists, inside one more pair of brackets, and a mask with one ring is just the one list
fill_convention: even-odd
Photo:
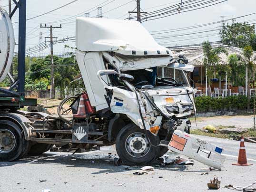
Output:
[[216,73],[220,70],[223,70],[223,67],[218,66],[219,57],[218,55],[221,53],[227,54],[225,48],[212,48],[209,41],[205,41],[203,43],[203,51],[204,51],[204,58],[203,63],[207,70],[207,81],[209,82],[208,86],[210,87],[210,79],[214,77]]

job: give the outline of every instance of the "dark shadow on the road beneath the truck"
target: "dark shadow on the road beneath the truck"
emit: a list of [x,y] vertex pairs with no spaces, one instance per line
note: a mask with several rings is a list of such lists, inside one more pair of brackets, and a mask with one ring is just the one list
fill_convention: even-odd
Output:
[[[113,156],[109,154],[103,154],[100,151],[98,154],[59,154],[59,153],[46,153],[39,156],[28,156],[25,159],[21,159],[15,162],[0,163],[0,167],[12,166],[15,164],[64,164],[67,167],[80,167],[80,168],[92,168],[98,169],[97,172],[91,174],[111,174],[126,171],[138,171],[142,166],[129,167],[124,164],[121,166],[115,166],[113,162]],[[111,157],[111,158],[109,158]],[[186,165],[166,165],[160,166],[159,160],[154,161],[150,166],[153,166],[155,170],[167,170],[175,172],[206,172],[206,170],[187,170]],[[188,165],[189,166],[189,165]],[[128,168],[128,169],[127,169]]]

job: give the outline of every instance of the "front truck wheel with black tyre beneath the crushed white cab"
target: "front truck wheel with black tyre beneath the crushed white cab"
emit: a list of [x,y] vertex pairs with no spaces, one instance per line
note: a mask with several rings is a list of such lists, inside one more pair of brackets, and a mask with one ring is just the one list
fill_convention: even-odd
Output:
[[[148,133],[152,144],[159,144],[159,137]],[[121,160],[128,165],[142,165],[156,159],[159,147],[148,143],[145,130],[135,124],[124,126],[118,133],[116,150]]]

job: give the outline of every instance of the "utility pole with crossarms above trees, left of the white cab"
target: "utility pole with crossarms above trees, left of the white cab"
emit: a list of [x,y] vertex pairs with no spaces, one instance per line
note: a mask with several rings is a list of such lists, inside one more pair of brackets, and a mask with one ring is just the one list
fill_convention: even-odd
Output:
[[50,38],[50,56],[51,56],[51,87],[50,87],[50,97],[51,99],[55,99],[55,83],[54,83],[54,62],[53,62],[53,35],[52,35],[52,29],[55,28],[61,28],[61,24],[59,27],[52,27],[51,26],[47,26],[45,24],[45,26],[42,26],[42,24],[40,25],[40,28],[48,28],[50,29],[50,37],[46,37],[46,38]]

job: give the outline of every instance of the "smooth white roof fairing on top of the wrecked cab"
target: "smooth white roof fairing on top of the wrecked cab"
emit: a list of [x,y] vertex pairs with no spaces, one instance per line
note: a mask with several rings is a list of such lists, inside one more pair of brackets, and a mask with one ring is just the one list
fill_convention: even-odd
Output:
[[120,19],[77,18],[76,46],[80,51],[113,51],[127,56],[172,56],[138,22]]

